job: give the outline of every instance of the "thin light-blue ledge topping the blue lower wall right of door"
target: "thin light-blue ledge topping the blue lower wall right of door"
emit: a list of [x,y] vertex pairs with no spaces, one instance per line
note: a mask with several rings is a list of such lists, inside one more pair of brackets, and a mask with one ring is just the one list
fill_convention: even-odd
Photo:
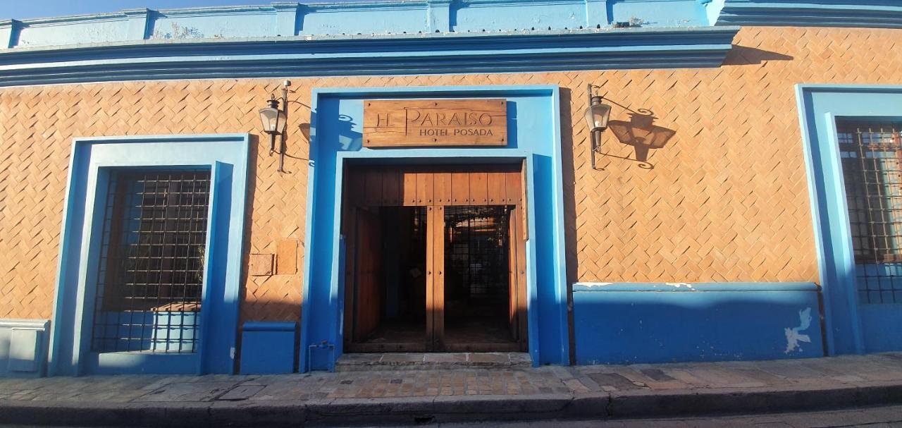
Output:
[[575,283],[573,291],[604,292],[816,292],[814,283]]

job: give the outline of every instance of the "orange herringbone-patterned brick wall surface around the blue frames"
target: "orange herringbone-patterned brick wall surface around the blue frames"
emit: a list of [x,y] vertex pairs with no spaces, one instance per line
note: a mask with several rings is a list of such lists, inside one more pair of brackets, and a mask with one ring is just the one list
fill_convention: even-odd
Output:
[[[723,67],[292,79],[310,89],[557,84],[562,88],[570,277],[604,282],[816,281],[796,83],[902,84],[902,30],[744,28]],[[290,78],[290,77],[289,77]],[[252,133],[281,79],[0,88],[0,318],[50,318],[71,138]],[[676,131],[654,169],[599,156],[589,167],[585,85],[648,108]],[[307,107],[291,105],[286,169],[253,141],[249,252],[304,239]],[[615,106],[612,119],[627,120]],[[611,132],[611,154],[632,154]],[[303,247],[299,248],[302,265]],[[244,320],[297,320],[302,274],[251,276]]]

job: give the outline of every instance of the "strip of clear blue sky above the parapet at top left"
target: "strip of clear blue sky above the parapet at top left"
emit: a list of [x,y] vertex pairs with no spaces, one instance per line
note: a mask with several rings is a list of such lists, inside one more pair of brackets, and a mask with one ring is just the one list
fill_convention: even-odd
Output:
[[[141,7],[175,9],[197,6],[269,5],[272,1],[274,0],[0,0],[0,20],[100,14]],[[308,3],[338,1],[346,0],[316,0]]]

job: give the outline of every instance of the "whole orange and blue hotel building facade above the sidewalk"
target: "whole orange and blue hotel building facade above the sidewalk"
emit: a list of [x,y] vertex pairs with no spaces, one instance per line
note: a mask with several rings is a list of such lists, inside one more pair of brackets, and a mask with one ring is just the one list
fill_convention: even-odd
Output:
[[900,27],[882,0],[0,22],[0,375],[902,349]]

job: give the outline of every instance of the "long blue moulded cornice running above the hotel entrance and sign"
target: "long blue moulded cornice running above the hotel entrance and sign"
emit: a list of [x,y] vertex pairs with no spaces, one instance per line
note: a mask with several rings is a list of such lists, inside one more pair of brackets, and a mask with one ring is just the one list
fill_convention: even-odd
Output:
[[718,67],[737,27],[281,37],[0,51],[0,86]]

